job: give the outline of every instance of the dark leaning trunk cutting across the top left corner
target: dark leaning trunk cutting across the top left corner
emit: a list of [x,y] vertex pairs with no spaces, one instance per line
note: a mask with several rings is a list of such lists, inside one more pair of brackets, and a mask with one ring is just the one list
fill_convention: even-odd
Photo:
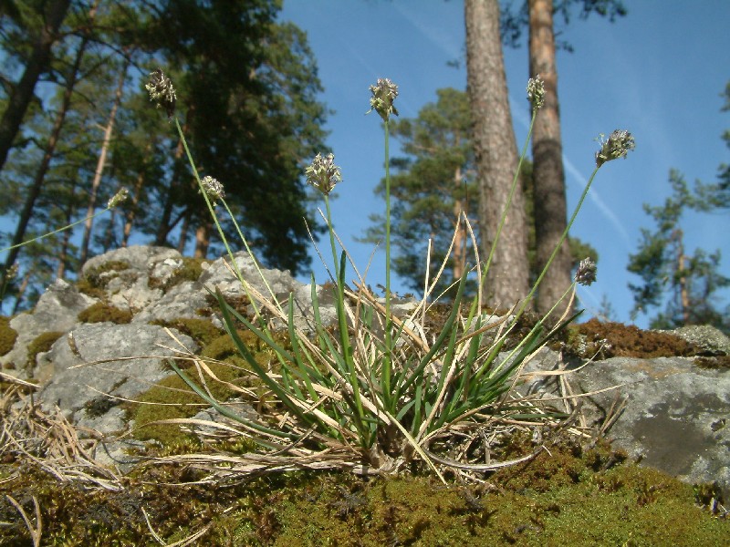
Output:
[[5,165],[7,154],[13,146],[20,124],[26,116],[26,111],[36,89],[36,83],[41,74],[51,62],[51,46],[57,40],[58,28],[66,17],[70,0],[53,0],[47,3],[46,25],[40,31],[33,51],[30,53],[26,70],[20,81],[12,89],[7,100],[7,107],[0,119],[0,170]]

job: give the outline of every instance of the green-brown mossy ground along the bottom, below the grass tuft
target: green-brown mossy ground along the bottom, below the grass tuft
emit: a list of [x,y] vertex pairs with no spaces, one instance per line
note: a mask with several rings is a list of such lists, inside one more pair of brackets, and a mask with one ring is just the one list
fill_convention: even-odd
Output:
[[5,494],[31,519],[36,496],[43,545],[157,544],[145,513],[164,542],[209,527],[193,544],[211,546],[727,544],[730,521],[701,507],[693,487],[620,463],[608,447],[563,442],[551,452],[478,487],[444,486],[418,472],[367,480],[291,472],[168,486],[203,477],[171,465],[134,471],[124,490],[83,490],[36,468],[5,464],[0,544],[30,544]]

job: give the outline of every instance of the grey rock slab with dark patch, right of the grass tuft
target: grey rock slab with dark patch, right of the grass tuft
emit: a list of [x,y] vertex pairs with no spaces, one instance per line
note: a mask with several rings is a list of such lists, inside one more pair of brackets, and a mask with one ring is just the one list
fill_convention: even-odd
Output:
[[[526,372],[555,368],[557,354],[544,350]],[[550,353],[553,353],[552,358]],[[572,365],[572,366],[575,366]],[[570,368],[571,366],[568,366]],[[689,483],[717,481],[730,496],[730,373],[704,369],[686,357],[612,357],[567,376],[583,400],[591,424],[599,426],[617,397],[625,400],[607,437],[631,458]],[[533,379],[523,388],[557,393],[555,380]]]

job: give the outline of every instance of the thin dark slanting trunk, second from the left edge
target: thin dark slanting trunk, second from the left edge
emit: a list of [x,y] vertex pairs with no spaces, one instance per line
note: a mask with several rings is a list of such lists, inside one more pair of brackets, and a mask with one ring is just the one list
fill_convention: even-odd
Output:
[[[43,183],[46,180],[48,168],[50,167],[51,160],[53,159],[53,155],[56,152],[58,137],[61,134],[61,129],[63,128],[64,121],[66,120],[66,114],[68,113],[68,107],[71,104],[71,97],[73,95],[74,87],[76,86],[76,82],[78,80],[78,69],[81,66],[81,59],[84,57],[84,51],[87,44],[88,40],[82,40],[76,51],[76,58],[74,59],[73,67],[71,67],[68,78],[66,80],[66,88],[64,89],[63,98],[61,99],[61,105],[58,109],[56,119],[53,122],[53,128],[51,129],[50,135],[48,136],[46,149],[43,151],[43,159],[40,161],[40,165],[38,165],[38,169],[36,170],[36,176],[33,179],[33,183],[30,185],[30,188],[28,188],[26,201],[23,203],[23,209],[20,212],[20,217],[18,218],[16,225],[16,233],[13,236],[13,241],[10,243],[11,245],[18,245],[20,243],[23,243],[23,239],[26,236],[28,223],[30,222],[30,218],[33,215],[33,208],[36,206],[36,200],[40,195],[41,189],[43,188]],[[18,253],[20,253],[20,247],[10,249],[7,252],[7,256],[5,257],[5,269],[3,271],[4,280],[5,273],[7,272],[8,268],[10,268],[10,266],[12,266],[13,263],[16,262]]]

